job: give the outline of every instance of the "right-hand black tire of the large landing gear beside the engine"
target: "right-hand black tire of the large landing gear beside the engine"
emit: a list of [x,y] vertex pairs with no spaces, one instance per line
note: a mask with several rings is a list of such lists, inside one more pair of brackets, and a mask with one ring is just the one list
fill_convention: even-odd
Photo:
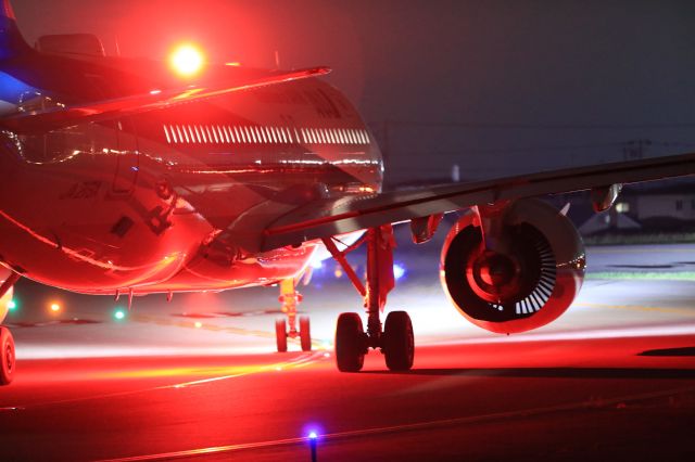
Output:
[[415,358],[413,323],[405,311],[392,311],[383,326],[383,354],[387,368],[392,371],[408,371]]

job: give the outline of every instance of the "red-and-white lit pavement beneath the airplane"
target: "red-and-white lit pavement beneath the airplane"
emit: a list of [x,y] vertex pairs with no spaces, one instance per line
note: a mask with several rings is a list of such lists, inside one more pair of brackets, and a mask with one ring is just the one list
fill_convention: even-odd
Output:
[[[7,320],[20,365],[0,389],[0,460],[690,460],[695,245],[596,247],[557,322],[497,336],[439,286],[437,249],[403,245],[390,298],[416,333],[408,373],[333,364],[339,312],[359,298],[334,268],[302,287],[314,349],[273,352],[274,288],[136,300],[24,283]],[[62,310],[46,304],[61,298]]]

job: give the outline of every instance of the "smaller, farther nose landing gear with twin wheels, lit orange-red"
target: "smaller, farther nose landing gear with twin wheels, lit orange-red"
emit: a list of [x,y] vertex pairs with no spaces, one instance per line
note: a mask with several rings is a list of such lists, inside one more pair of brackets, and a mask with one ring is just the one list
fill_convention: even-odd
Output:
[[[302,294],[296,292],[294,279],[286,279],[280,282],[280,303],[286,318],[275,320],[275,341],[278,351],[287,351],[287,339],[300,338],[302,351],[312,350],[311,324],[307,316],[299,317],[299,331],[296,329],[296,306],[302,301]],[[288,324],[290,330],[288,331]]]

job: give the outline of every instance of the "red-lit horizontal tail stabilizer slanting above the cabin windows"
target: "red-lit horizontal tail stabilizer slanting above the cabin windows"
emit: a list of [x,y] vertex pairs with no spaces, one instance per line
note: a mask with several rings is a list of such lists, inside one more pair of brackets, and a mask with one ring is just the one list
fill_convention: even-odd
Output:
[[328,67],[313,67],[287,73],[271,73],[265,76],[233,82],[220,88],[188,87],[175,90],[153,89],[146,94],[137,94],[84,105],[56,107],[47,111],[26,112],[0,119],[0,127],[16,133],[50,131],[72,127],[83,123],[110,120],[123,116],[142,114],[223,97],[236,91],[285,84],[298,79],[326,75]]

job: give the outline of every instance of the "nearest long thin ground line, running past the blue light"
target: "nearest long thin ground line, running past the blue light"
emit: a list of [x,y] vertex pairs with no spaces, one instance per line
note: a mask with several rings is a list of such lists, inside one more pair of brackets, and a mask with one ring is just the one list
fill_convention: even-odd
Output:
[[[628,396],[616,397],[610,399],[601,399],[601,400],[590,399],[590,400],[583,400],[579,402],[571,402],[567,405],[531,408],[531,409],[523,409],[519,411],[495,412],[490,414],[471,415],[471,416],[453,418],[453,419],[441,419],[441,420],[434,420],[434,421],[418,422],[413,424],[390,425],[390,426],[381,426],[381,427],[365,428],[365,429],[328,433],[328,434],[320,435],[319,438],[320,440],[337,441],[337,440],[351,439],[351,438],[363,437],[363,436],[375,436],[375,435],[384,435],[384,434],[391,434],[391,433],[424,431],[424,429],[437,428],[442,426],[488,423],[488,422],[493,422],[498,420],[531,418],[531,416],[539,416],[544,414],[557,413],[557,412],[570,412],[570,411],[577,411],[577,410],[583,410],[583,409],[604,409],[604,408],[610,408],[610,407],[619,407],[622,409],[628,402],[639,402],[639,401],[645,401],[649,399],[662,398],[667,396],[681,395],[681,394],[693,393],[693,392],[695,392],[695,387],[691,386],[686,388],[674,388],[670,390],[628,395]],[[157,454],[132,455],[132,457],[126,457],[126,458],[119,458],[119,459],[104,459],[98,462],[136,462],[136,461],[182,459],[182,458],[190,458],[195,455],[230,453],[230,452],[238,452],[238,451],[251,450],[251,449],[269,449],[269,448],[277,448],[282,446],[294,446],[300,444],[306,445],[306,442],[307,442],[306,438],[296,438],[296,437],[283,438],[283,439],[275,439],[275,440],[257,441],[257,442],[245,442],[245,444],[228,445],[228,446],[214,446],[208,448],[189,449],[189,450],[174,451],[174,452],[162,452]]]

